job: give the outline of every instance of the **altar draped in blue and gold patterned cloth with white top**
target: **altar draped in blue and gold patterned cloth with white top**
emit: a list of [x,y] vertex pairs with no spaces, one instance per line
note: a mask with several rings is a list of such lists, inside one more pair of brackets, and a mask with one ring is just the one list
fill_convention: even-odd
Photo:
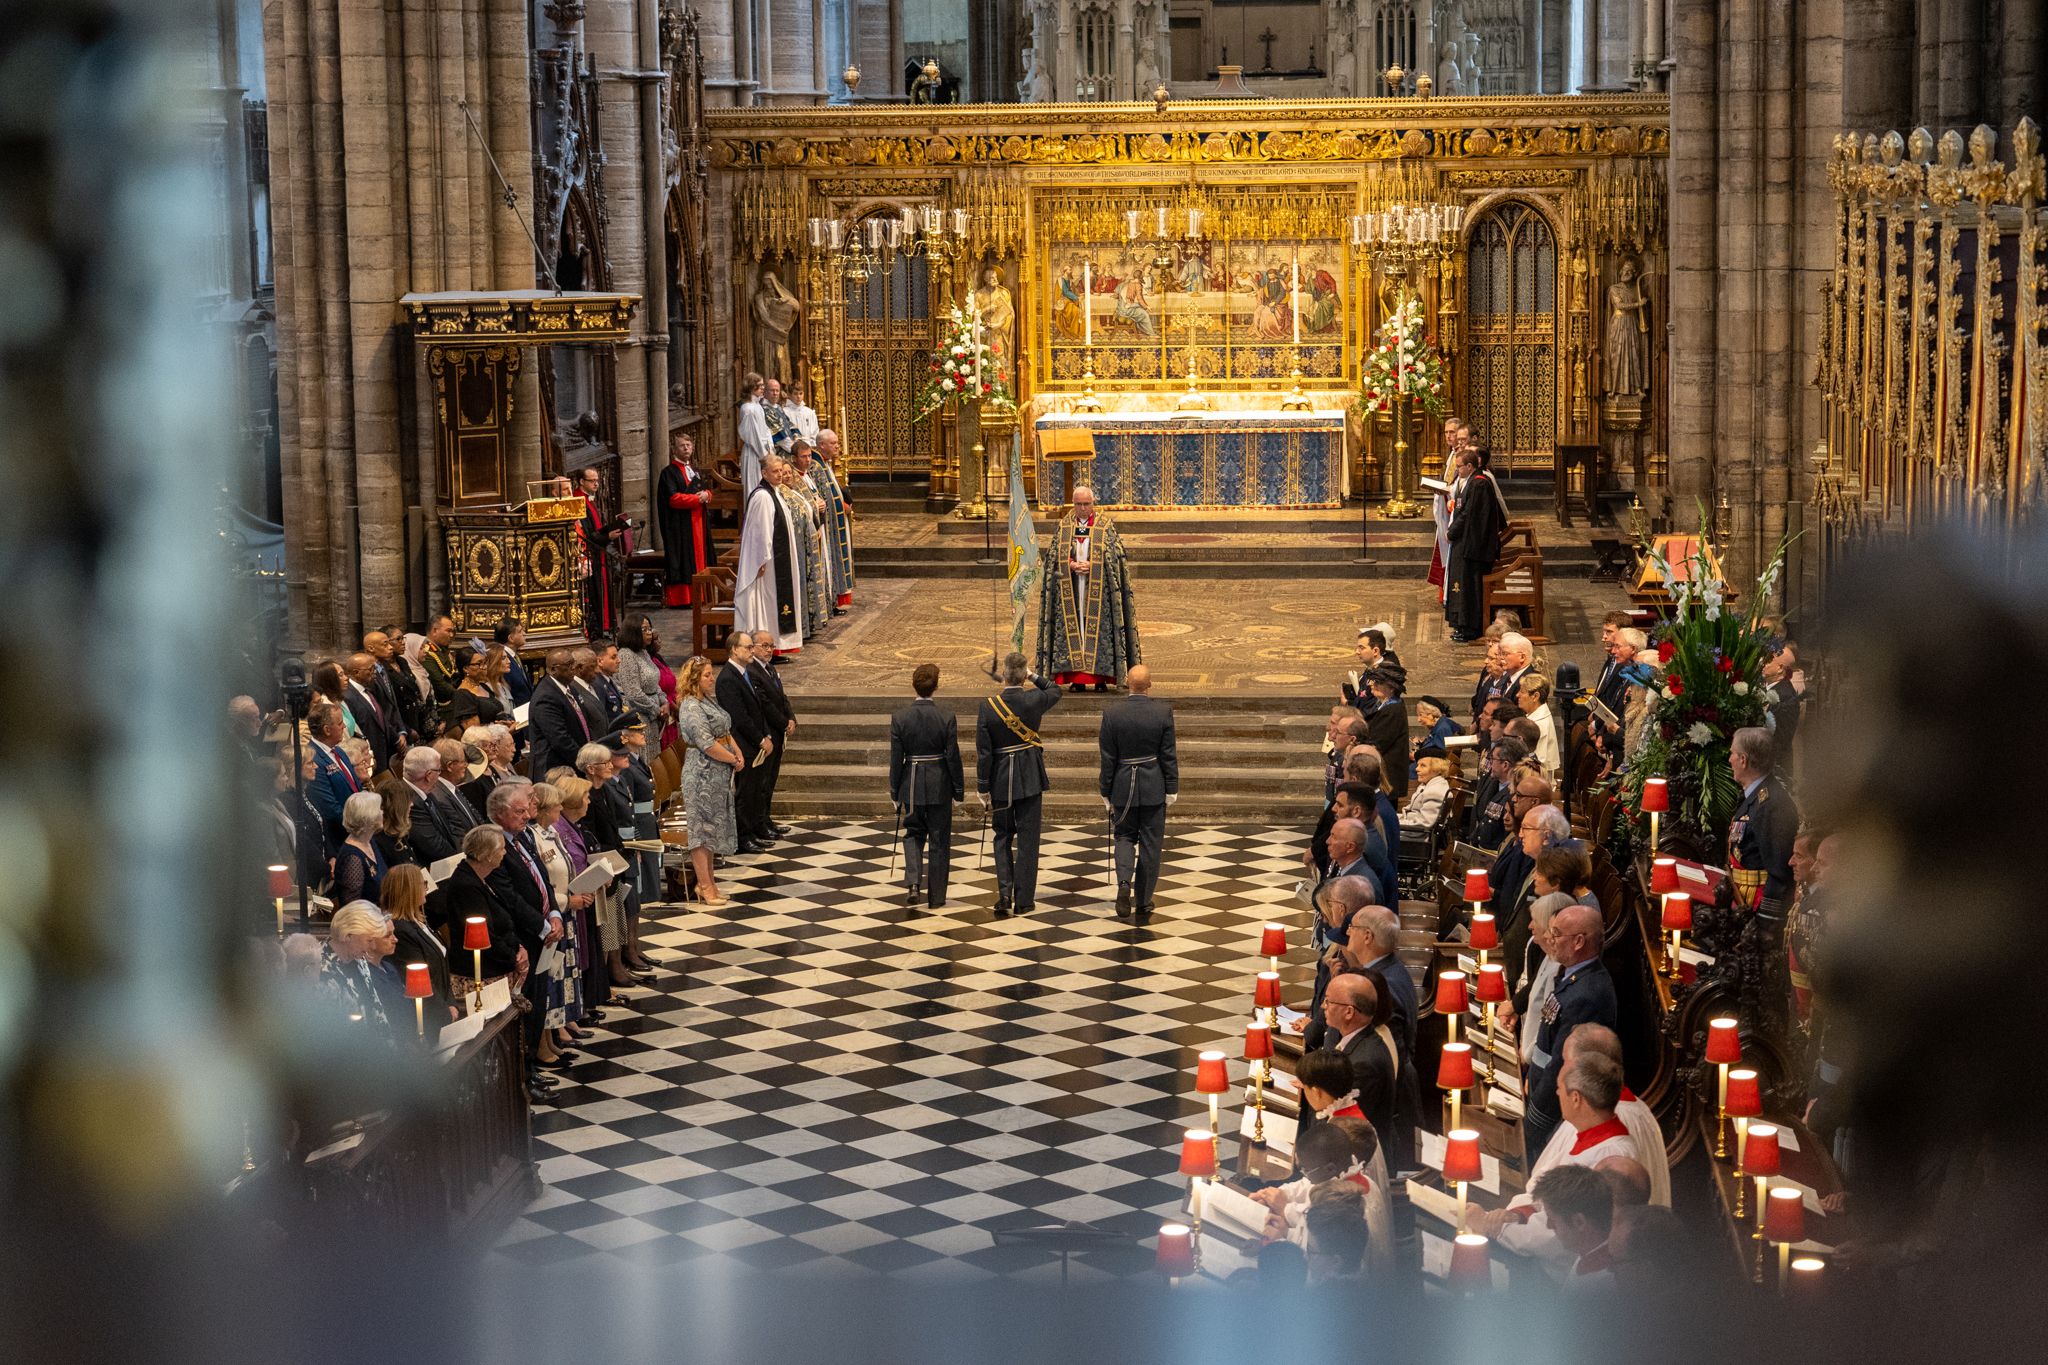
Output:
[[[1343,411],[1047,413],[1085,428],[1094,465],[1073,467],[1102,508],[1335,508],[1343,501]],[[1044,463],[1040,463],[1044,471]],[[1040,473],[1040,479],[1049,473]]]

